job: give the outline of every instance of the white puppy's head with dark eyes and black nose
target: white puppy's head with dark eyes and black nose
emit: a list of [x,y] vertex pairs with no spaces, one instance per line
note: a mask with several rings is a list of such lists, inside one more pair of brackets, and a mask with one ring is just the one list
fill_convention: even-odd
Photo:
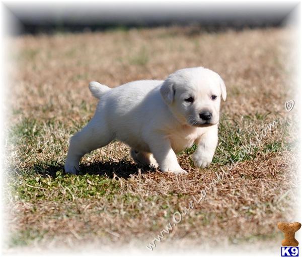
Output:
[[202,67],[172,73],[164,81],[161,94],[180,122],[200,127],[218,123],[220,96],[226,99],[223,80]]

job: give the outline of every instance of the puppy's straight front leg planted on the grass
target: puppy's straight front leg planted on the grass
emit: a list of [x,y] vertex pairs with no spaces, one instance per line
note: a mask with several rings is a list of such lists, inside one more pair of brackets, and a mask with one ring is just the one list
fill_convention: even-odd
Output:
[[154,135],[149,142],[150,151],[158,162],[161,171],[172,172],[174,174],[186,174],[178,164],[176,154],[174,153],[171,143],[162,135]]

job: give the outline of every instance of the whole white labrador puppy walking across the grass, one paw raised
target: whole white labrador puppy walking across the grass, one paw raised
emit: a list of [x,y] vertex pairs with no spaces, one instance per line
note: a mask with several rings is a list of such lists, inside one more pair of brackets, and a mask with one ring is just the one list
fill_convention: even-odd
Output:
[[217,146],[220,76],[203,67],[181,69],[165,81],[133,81],[110,89],[91,82],[99,98],[94,117],[70,139],[65,171],[76,174],[83,155],[117,139],[131,147],[135,162],[163,172],[186,173],[176,154],[197,144],[196,167],[212,161]]

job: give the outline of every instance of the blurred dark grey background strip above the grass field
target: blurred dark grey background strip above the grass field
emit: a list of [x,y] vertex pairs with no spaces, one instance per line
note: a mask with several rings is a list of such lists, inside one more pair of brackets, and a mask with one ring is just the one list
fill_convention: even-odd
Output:
[[195,26],[200,30],[281,26],[297,3],[6,3],[15,34]]

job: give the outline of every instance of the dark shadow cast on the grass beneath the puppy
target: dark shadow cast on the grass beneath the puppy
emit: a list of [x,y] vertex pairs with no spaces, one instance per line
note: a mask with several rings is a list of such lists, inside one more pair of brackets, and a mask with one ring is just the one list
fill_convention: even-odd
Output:
[[[155,169],[136,165],[130,161],[126,161],[123,159],[119,162],[107,161],[89,163],[88,165],[80,165],[80,172],[77,175],[100,175],[109,178],[114,178],[115,176],[117,176],[120,178],[128,179],[131,175],[138,175],[139,169],[141,173],[156,171]],[[56,177],[58,172],[65,174],[64,166],[56,162],[54,164],[36,164],[34,165],[34,171],[42,176],[51,177]]]

